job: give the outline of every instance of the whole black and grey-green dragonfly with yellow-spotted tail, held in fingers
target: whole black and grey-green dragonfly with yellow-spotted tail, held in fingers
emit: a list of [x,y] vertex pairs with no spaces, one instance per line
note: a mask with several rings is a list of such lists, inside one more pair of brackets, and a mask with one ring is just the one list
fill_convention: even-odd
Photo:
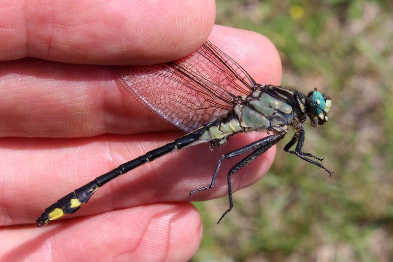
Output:
[[[233,208],[231,175],[250,164],[277,144],[290,131],[295,131],[284,150],[332,175],[322,165],[323,158],[302,151],[304,126],[328,121],[332,101],[315,88],[308,95],[293,88],[258,84],[236,61],[210,41],[179,60],[143,66],[110,66],[120,84],[144,106],[188,134],[148,151],[96,177],[50,205],[37,218],[38,227],[74,213],[112,179],[161,156],[200,143],[211,149],[224,146],[229,137],[246,132],[267,132],[268,136],[223,154],[208,186],[190,192],[212,189],[224,159],[247,154],[227,173],[229,208]],[[292,146],[294,150],[291,150]]]

